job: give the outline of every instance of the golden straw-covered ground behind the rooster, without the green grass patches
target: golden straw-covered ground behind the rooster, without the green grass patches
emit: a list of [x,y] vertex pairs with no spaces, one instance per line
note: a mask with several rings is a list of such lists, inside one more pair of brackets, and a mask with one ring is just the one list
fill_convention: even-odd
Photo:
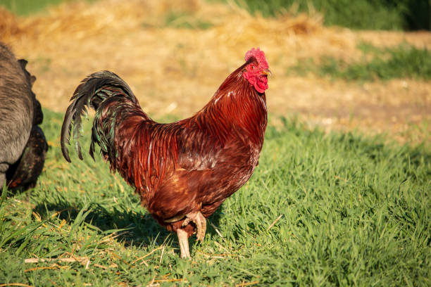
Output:
[[[173,20],[167,24],[168,18]],[[345,82],[287,73],[309,57],[354,60],[363,41],[431,49],[431,32],[323,27],[318,13],[265,19],[233,4],[203,0],[101,0],[66,3],[20,18],[0,11],[0,40],[29,60],[37,98],[58,112],[65,111],[85,75],[112,70],[130,84],[151,116],[188,117],[242,65],[246,51],[259,46],[273,72],[267,91],[270,113],[297,115],[327,130],[384,132],[401,142],[431,139],[431,82]]]

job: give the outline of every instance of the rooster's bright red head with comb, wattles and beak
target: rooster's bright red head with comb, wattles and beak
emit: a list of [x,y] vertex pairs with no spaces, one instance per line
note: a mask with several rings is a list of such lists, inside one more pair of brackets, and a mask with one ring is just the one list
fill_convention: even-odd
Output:
[[259,93],[268,89],[268,75],[271,75],[265,53],[259,48],[252,48],[245,55],[247,65],[242,75]]

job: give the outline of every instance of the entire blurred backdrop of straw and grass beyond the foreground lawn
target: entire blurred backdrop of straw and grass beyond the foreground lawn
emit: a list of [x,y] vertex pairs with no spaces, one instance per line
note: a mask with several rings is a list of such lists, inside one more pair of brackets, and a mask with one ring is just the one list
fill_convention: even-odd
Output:
[[427,0],[1,0],[0,41],[64,113],[80,80],[112,70],[156,119],[188,117],[259,46],[277,115],[311,127],[430,139]]

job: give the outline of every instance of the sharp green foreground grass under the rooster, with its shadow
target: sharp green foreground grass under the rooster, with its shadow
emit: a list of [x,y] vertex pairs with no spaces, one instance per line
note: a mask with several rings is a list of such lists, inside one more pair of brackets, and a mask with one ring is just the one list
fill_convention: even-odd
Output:
[[[325,134],[296,120],[268,127],[253,177],[209,218],[223,238],[208,224],[202,245],[191,240],[188,261],[100,158],[65,162],[62,115],[44,114],[45,171],[35,189],[1,198],[0,283],[431,284],[429,146]],[[89,262],[60,259],[72,255]],[[36,257],[53,261],[24,261]]]

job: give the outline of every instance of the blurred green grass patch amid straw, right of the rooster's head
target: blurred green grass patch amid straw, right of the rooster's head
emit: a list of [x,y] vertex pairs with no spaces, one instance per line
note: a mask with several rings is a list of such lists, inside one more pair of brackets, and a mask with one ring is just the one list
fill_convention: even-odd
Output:
[[[316,63],[313,58],[301,60],[287,68],[288,74],[306,75],[312,72],[320,77],[334,79],[372,81],[375,79],[415,78],[431,79],[431,52],[426,48],[401,44],[396,47],[378,49],[367,43],[359,48],[361,60],[350,63],[332,56],[323,56]],[[372,57],[368,60],[368,57]]]

